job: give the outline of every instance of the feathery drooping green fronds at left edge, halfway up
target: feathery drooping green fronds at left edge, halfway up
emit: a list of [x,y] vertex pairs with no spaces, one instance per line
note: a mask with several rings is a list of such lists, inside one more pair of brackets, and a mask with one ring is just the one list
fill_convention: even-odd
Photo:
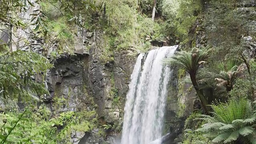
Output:
[[[0,98],[39,100],[38,96],[48,94],[44,88],[44,74],[51,68],[48,60],[34,52],[0,53]],[[44,73],[44,74],[42,74]],[[34,77],[34,78],[33,78]],[[15,101],[14,101],[15,102]]]

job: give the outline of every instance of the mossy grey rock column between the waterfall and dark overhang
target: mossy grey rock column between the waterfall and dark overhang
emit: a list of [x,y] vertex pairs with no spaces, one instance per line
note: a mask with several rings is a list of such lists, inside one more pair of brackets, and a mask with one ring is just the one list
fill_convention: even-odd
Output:
[[[121,51],[115,54],[114,61],[103,64],[98,57],[97,46],[92,46],[86,72],[88,80],[89,95],[94,97],[98,105],[98,117],[103,121],[113,124],[123,116],[128,83],[134,64],[136,53],[130,50]],[[118,103],[114,104],[114,98],[118,98]]]

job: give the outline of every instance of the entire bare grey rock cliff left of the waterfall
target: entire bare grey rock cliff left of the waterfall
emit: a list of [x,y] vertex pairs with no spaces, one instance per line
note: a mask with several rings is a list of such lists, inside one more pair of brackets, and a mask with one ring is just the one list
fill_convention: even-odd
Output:
[[[97,40],[97,39],[96,39]],[[62,55],[54,61],[54,68],[46,76],[50,95],[44,96],[52,112],[96,110],[102,124],[121,122],[130,75],[137,58],[137,52],[125,50],[117,52],[113,61],[99,60],[100,47],[94,42],[90,55]],[[114,98],[117,101],[114,102]],[[118,137],[115,132],[105,138],[97,129],[90,133],[73,132],[70,141],[74,144],[113,144]]]

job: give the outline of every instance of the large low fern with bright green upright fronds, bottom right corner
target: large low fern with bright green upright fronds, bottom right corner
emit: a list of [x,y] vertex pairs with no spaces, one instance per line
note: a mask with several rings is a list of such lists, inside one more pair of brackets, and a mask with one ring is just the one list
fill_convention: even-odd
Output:
[[224,144],[255,144],[256,115],[252,104],[247,98],[232,97],[228,103],[212,105],[213,117],[203,118],[207,123],[196,132],[205,133],[204,136],[212,143]]

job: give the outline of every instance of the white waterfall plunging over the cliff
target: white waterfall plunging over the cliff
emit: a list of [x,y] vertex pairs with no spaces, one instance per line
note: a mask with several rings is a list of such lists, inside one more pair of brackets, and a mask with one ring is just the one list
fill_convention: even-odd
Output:
[[166,96],[172,75],[170,68],[162,66],[162,60],[173,54],[177,47],[164,46],[150,50],[146,56],[138,56],[126,95],[121,144],[149,144],[162,136]]

